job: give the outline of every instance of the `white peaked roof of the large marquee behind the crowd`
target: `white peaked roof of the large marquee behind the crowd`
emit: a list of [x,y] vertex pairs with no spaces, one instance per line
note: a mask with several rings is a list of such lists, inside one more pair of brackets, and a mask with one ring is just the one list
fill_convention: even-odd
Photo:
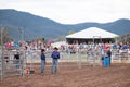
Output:
[[119,37],[117,34],[98,28],[98,27],[91,27],[87,28],[80,32],[77,32],[75,34],[66,36],[67,41],[69,40],[87,40],[87,39],[114,39],[116,37]]

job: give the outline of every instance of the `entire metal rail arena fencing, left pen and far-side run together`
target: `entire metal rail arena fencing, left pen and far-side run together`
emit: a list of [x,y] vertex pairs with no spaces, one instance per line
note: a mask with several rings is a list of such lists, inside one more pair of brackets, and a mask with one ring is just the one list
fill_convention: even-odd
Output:
[[[3,55],[2,55],[3,53]],[[34,67],[40,67],[40,50],[34,51],[23,51],[20,50],[20,62],[15,63],[14,54],[16,52],[13,50],[4,50],[0,53],[0,76],[1,78],[9,76],[25,76],[25,70],[34,70]],[[47,63],[51,63],[51,52],[46,53]],[[81,69],[82,65],[102,65],[102,54],[101,51],[90,50],[82,53],[80,50],[76,53],[61,52],[61,59],[58,60],[58,69],[61,66],[77,66]],[[117,53],[113,52],[112,63],[114,62],[130,62],[130,53]],[[66,62],[72,64],[66,64]],[[51,64],[47,65],[51,66]],[[17,69],[16,69],[17,67]]]

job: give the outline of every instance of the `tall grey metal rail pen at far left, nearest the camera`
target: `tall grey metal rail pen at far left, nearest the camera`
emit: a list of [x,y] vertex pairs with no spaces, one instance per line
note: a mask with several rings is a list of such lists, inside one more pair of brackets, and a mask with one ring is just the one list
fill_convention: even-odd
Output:
[[9,76],[24,76],[26,69],[26,57],[24,51],[20,51],[20,60],[14,59],[17,51],[3,50],[0,54],[0,76],[1,79]]

